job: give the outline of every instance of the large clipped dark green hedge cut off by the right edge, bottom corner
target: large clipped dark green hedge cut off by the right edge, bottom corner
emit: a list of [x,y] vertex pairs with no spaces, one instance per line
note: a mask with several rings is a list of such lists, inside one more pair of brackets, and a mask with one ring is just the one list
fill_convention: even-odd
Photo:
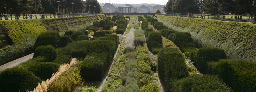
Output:
[[210,74],[217,75],[234,91],[256,90],[256,63],[241,59],[221,59],[208,63]]

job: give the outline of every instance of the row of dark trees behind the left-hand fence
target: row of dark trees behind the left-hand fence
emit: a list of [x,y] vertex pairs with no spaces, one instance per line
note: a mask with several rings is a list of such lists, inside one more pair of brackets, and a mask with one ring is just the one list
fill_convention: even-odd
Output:
[[[100,5],[97,0],[1,0],[0,14],[55,14],[58,13],[58,5],[59,13],[69,14],[72,13],[72,3],[74,13],[88,12],[89,5],[91,13],[94,9],[96,13],[99,12]],[[101,8],[100,12],[103,12]]]

